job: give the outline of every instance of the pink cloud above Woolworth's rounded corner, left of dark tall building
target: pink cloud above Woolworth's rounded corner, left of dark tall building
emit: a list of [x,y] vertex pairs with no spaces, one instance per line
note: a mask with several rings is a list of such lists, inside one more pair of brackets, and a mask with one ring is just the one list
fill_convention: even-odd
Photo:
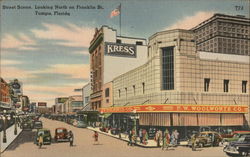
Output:
[[199,23],[203,22],[204,19],[208,19],[212,17],[214,12],[197,12],[193,16],[186,16],[171,26],[168,26],[165,28],[165,30],[170,30],[170,29],[191,29],[198,25]]

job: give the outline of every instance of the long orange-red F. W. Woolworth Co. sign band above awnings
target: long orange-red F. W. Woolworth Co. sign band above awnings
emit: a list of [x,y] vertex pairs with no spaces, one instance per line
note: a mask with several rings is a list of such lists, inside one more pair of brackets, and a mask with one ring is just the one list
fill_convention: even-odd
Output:
[[103,113],[186,112],[186,113],[248,113],[246,105],[137,105],[100,108]]

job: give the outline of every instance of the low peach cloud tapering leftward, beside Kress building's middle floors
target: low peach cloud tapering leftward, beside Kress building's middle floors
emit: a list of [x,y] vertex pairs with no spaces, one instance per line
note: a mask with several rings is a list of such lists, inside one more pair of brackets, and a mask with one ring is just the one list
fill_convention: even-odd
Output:
[[34,73],[53,73],[66,74],[74,79],[88,79],[89,65],[88,64],[54,64],[50,68],[36,71]]

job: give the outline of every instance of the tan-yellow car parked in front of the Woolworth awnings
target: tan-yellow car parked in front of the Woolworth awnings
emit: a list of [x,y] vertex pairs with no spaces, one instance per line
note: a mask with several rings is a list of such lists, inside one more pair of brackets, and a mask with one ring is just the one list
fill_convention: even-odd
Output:
[[[213,138],[214,142],[212,142]],[[220,134],[214,131],[200,132],[196,137],[196,145],[198,147],[219,146],[221,141],[222,137],[220,136]],[[188,146],[192,146],[191,140],[188,141]]]

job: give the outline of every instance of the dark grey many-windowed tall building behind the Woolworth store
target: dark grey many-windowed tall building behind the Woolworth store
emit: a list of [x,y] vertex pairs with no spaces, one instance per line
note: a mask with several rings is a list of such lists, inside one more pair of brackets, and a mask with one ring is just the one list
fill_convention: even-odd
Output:
[[215,14],[192,29],[198,51],[250,55],[250,19]]

